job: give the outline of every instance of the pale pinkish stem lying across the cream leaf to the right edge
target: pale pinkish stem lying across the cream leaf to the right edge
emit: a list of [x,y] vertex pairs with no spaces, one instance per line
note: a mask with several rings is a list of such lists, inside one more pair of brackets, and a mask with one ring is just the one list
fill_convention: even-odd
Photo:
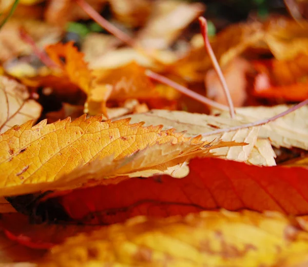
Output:
[[225,128],[225,129],[219,129],[219,130],[215,130],[213,132],[208,132],[208,133],[201,134],[201,135],[202,136],[209,136],[209,135],[213,135],[213,134],[227,133],[227,132],[237,131],[237,130],[240,130],[240,129],[261,126],[261,125],[267,124],[268,122],[271,122],[271,121],[274,121],[278,118],[281,118],[281,117],[283,117],[283,116],[285,116],[285,115],[287,115],[287,114],[289,114],[289,113],[291,113],[291,112],[293,112],[293,111],[295,111],[295,110],[297,110],[297,109],[299,109],[303,106],[306,106],[306,105],[308,105],[308,99],[300,102],[299,104],[293,106],[290,109],[287,109],[284,112],[281,112],[281,113],[275,115],[274,117],[258,120],[258,121],[251,122],[249,124],[240,125],[240,126],[235,126],[235,127]]

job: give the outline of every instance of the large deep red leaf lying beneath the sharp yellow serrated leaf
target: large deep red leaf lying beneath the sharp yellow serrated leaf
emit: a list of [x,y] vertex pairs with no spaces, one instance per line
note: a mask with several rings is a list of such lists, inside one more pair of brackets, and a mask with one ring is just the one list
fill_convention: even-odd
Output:
[[100,224],[137,215],[165,217],[219,208],[308,214],[308,169],[249,166],[217,158],[192,159],[189,168],[182,179],[132,178],[57,199],[71,218]]

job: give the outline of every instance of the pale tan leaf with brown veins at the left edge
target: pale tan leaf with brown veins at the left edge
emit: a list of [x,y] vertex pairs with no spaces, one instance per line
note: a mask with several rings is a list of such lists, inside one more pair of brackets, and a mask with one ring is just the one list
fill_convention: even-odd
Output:
[[29,99],[27,88],[13,79],[0,76],[0,133],[29,119],[37,120],[42,107]]

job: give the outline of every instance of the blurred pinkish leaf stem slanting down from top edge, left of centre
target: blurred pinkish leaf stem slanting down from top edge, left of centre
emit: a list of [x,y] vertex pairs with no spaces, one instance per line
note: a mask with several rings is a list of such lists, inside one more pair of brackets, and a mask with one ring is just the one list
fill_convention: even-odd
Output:
[[95,11],[85,0],[75,0],[75,1],[95,22],[97,22],[106,31],[110,32],[115,37],[122,40],[122,42],[126,43],[127,45],[131,47],[136,46],[136,43],[129,35],[127,35],[123,31],[119,30],[117,27],[109,23],[108,20],[106,20],[97,11]]

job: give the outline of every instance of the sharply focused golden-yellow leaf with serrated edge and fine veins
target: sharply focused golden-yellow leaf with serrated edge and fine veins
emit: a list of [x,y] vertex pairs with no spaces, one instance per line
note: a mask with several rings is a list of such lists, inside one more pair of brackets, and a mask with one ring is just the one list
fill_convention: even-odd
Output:
[[[186,156],[191,151],[202,152],[203,147],[208,145],[208,142],[200,141],[200,136],[187,138],[174,129],[162,131],[162,126],[143,127],[143,122],[129,125],[129,120],[101,122],[101,117],[85,119],[82,116],[72,122],[67,118],[49,125],[44,120],[32,128],[31,121],[28,121],[8,130],[0,136],[0,195],[25,194],[72,185],[77,187],[75,181],[67,184],[65,179],[73,179],[74,175],[70,172],[78,167],[76,170],[79,173],[82,173],[80,168],[84,166],[94,178],[95,175],[108,178],[117,173],[115,166],[122,170],[122,174],[130,173],[155,167],[153,162],[161,165],[176,156]],[[223,146],[220,141],[217,144]],[[230,142],[225,145],[230,146]],[[145,149],[161,150],[160,146],[165,157],[151,160],[141,158],[132,162],[134,154],[138,157]],[[211,145],[207,146],[207,150],[209,147]],[[127,168],[130,166],[128,163],[137,165],[138,169]],[[104,166],[105,169],[98,174],[92,172],[92,165]],[[56,180],[60,184],[52,185]],[[79,186],[86,181],[79,181]]]

